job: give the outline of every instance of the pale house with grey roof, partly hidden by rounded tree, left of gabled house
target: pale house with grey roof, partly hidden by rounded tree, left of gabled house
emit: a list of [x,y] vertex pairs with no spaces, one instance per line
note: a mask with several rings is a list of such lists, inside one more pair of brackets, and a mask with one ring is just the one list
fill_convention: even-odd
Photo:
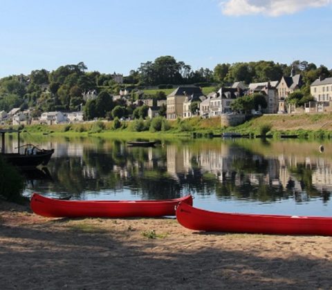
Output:
[[266,103],[268,106],[262,109],[263,113],[275,114],[278,111],[278,93],[277,86],[279,81],[265,81],[262,83],[252,83],[249,84],[248,93],[251,95],[253,93],[261,93],[266,98]]

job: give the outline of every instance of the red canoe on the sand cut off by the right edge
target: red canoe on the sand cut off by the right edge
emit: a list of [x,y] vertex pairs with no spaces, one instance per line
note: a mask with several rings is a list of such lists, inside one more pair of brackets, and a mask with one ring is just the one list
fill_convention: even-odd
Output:
[[291,215],[216,213],[196,209],[181,202],[176,219],[187,229],[232,233],[270,233],[281,235],[332,235],[332,218]]

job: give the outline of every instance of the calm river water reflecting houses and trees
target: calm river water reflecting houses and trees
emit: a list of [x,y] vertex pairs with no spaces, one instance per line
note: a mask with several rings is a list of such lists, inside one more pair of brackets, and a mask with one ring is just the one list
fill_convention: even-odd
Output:
[[24,195],[149,200],[191,193],[195,206],[213,211],[332,215],[329,141],[159,141],[155,148],[130,148],[121,139],[26,138],[55,154],[46,168],[26,173]]

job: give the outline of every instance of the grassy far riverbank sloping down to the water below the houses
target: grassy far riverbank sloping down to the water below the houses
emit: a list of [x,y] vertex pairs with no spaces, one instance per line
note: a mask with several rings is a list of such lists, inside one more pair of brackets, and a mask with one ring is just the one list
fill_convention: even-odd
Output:
[[[135,122],[135,121],[134,121]],[[136,121],[137,122],[137,121]],[[202,119],[193,117],[190,119],[178,119],[167,121],[167,130],[151,132],[150,121],[144,122],[139,132],[133,128],[133,122],[121,122],[120,128],[114,129],[110,122],[85,122],[84,124],[66,125],[33,125],[25,126],[28,133],[52,134],[52,135],[121,135],[122,137],[174,137],[174,135],[191,136],[192,133],[201,133],[202,136],[220,134],[222,132],[238,132],[257,135],[264,133],[278,137],[281,134],[299,135],[299,137],[332,137],[332,114],[303,114],[303,115],[263,115],[255,117],[239,126],[221,128],[219,117]],[[150,129],[150,130],[149,130]]]

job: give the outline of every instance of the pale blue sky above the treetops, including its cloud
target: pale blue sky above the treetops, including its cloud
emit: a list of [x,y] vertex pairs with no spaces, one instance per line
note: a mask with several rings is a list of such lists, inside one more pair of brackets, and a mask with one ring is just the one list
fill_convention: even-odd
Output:
[[193,70],[295,60],[332,69],[332,0],[0,0],[0,78],[83,61],[129,75],[171,55]]

